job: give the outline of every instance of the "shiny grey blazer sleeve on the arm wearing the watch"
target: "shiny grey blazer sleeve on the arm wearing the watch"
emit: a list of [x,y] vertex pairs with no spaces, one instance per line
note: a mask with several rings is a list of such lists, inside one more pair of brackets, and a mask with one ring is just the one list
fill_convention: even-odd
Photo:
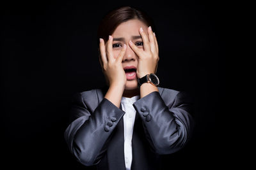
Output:
[[182,148],[193,129],[192,103],[179,92],[166,106],[159,92],[151,92],[133,104],[139,113],[148,142],[154,152],[170,154]]

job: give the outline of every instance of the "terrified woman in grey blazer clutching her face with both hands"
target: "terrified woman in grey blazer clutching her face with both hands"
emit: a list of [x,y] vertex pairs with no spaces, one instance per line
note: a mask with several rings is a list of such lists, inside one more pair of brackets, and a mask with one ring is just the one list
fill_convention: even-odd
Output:
[[191,136],[191,105],[183,93],[158,87],[157,39],[145,13],[113,10],[98,34],[108,87],[74,96],[68,147],[85,166],[159,169],[161,155],[177,152]]

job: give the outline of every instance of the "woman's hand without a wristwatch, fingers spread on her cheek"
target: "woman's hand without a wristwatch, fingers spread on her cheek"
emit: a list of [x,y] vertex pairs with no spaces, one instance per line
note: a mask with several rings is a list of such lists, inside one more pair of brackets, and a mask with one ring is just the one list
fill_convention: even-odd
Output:
[[126,48],[127,46],[124,45],[118,56],[115,58],[113,55],[113,37],[109,36],[106,46],[104,44],[104,40],[100,38],[101,66],[109,83],[109,87],[111,85],[125,86],[126,75],[122,66],[122,60],[124,58]]

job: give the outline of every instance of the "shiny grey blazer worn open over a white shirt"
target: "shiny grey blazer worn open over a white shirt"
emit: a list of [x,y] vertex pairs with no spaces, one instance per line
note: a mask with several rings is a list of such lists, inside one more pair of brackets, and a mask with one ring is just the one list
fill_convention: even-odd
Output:
[[[192,105],[182,92],[158,87],[136,101],[131,169],[160,169],[161,155],[177,152],[191,136]],[[108,88],[77,93],[65,131],[70,152],[85,166],[125,170],[122,106],[104,98]]]

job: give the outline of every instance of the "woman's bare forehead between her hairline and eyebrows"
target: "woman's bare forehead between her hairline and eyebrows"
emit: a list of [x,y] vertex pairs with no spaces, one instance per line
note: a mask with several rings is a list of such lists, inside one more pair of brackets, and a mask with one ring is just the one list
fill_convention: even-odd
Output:
[[116,27],[113,32],[113,37],[128,37],[128,36],[138,36],[140,35],[139,29],[143,28],[145,32],[147,32],[147,25],[145,25],[140,20],[128,20],[127,22],[123,22],[122,24]]

